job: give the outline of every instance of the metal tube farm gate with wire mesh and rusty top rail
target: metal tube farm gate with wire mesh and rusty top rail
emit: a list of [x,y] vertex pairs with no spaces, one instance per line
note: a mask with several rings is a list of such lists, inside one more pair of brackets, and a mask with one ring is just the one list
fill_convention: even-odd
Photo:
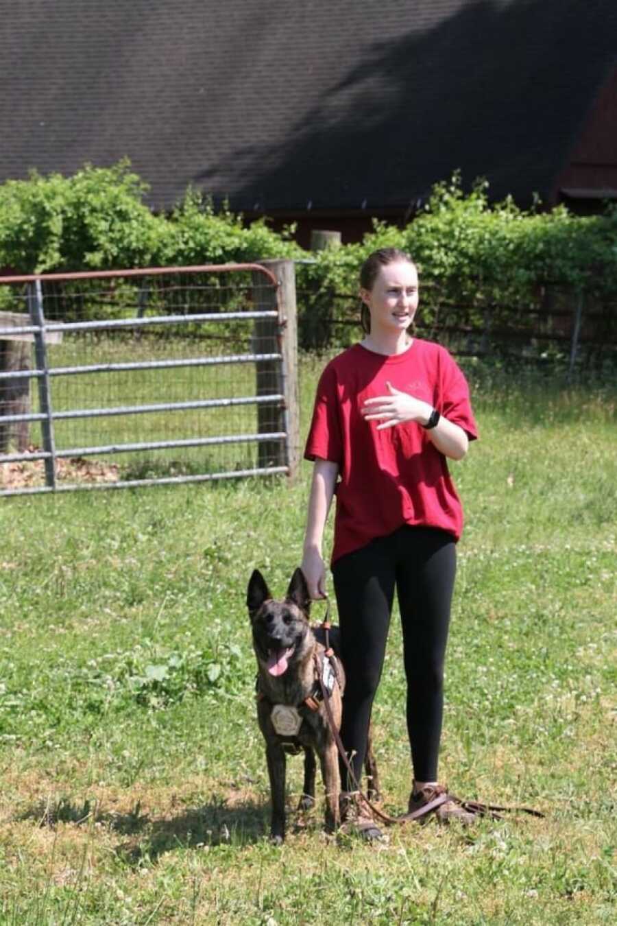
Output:
[[0,494],[294,475],[293,265],[267,263],[0,278]]

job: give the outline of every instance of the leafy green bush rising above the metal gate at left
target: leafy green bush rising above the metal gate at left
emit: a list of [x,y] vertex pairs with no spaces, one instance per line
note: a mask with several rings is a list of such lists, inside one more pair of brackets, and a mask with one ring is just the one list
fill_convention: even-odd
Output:
[[167,217],[144,205],[148,190],[127,161],[72,177],[33,172],[0,185],[0,266],[18,273],[187,266],[299,257],[290,235],[265,221],[245,227],[227,208],[188,191]]

